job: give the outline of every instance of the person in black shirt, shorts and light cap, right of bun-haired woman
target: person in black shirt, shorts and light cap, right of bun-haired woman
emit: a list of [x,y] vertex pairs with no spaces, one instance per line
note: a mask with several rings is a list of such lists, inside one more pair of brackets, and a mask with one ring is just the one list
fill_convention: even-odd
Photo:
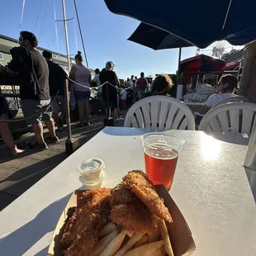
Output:
[[[111,61],[108,61],[106,64],[106,69],[102,69],[100,73],[100,81],[101,83],[105,83],[102,86],[102,98],[105,105],[106,115],[109,115],[109,109],[112,107],[116,113],[116,120],[121,121],[124,119],[119,115],[119,99],[117,93],[119,80],[117,78],[116,72],[114,72],[113,69],[114,64]],[[106,82],[108,82],[108,84]]]

